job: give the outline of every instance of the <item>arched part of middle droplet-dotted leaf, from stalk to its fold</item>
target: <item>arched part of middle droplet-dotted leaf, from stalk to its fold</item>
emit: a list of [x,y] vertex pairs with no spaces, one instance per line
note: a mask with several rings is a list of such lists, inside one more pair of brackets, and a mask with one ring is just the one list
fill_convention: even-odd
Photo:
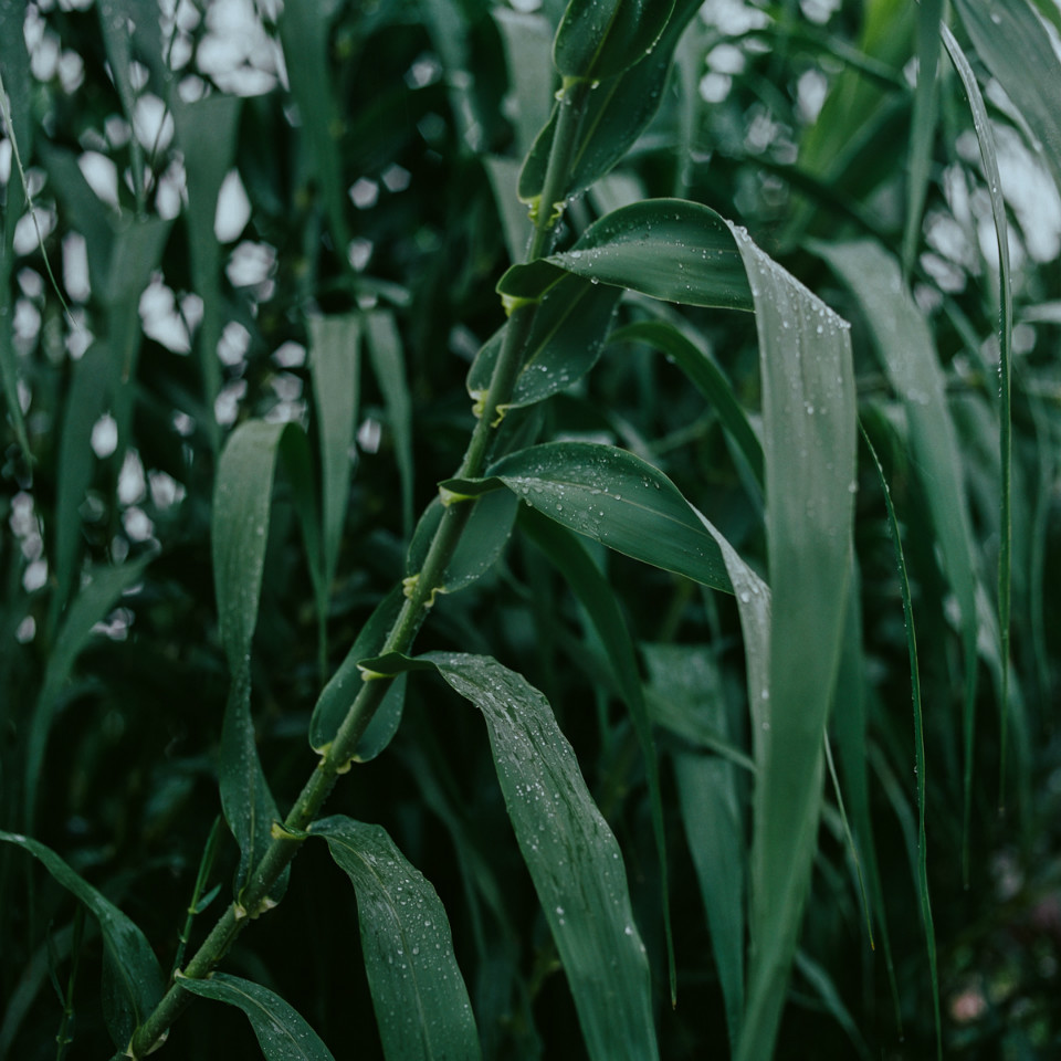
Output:
[[[611,445],[548,442],[502,458],[480,483],[501,481],[550,519],[609,548],[732,591],[718,546],[656,468]],[[474,483],[449,480],[465,492]]]

